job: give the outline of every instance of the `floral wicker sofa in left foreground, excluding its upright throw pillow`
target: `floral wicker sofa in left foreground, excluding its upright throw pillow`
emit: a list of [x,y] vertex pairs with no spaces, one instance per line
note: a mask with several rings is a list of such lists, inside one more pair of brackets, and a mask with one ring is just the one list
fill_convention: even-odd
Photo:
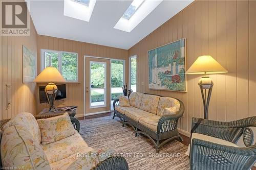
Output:
[[[4,126],[4,124],[6,125]],[[61,123],[60,126],[65,125]],[[31,113],[20,113],[9,122],[1,120],[1,126],[4,126],[1,127],[3,135],[1,136],[0,161],[3,168],[129,169],[123,157],[107,156],[113,151],[109,149],[95,150],[88,147],[77,131],[71,136],[42,145],[38,123]],[[106,154],[104,155],[104,153]],[[83,154],[88,156],[78,156]],[[95,157],[92,157],[94,155]]]

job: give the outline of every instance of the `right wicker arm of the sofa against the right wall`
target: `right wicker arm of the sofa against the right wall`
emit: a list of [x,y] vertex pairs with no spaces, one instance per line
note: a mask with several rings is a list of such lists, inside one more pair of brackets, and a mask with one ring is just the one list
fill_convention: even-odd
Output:
[[180,102],[180,109],[176,114],[163,115],[157,124],[157,133],[174,130],[177,128],[178,120],[184,113],[184,104]]

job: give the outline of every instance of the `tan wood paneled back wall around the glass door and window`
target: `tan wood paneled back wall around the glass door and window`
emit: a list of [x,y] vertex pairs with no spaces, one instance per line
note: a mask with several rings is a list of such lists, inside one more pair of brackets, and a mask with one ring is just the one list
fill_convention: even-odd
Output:
[[[96,45],[91,43],[84,43],[72,41],[67,39],[55,38],[38,35],[37,37],[37,70],[40,72],[40,50],[49,49],[57,51],[66,51],[78,53],[78,82],[66,83],[67,99],[65,101],[57,101],[57,106],[76,105],[77,116],[83,116],[84,110],[84,56],[94,56],[103,58],[123,59],[125,60],[125,82],[128,78],[128,51],[119,48],[108,47],[103,45]],[[38,83],[39,85],[44,85]],[[36,90],[36,112],[39,113],[42,109],[47,108],[47,104],[39,104],[38,89]]]

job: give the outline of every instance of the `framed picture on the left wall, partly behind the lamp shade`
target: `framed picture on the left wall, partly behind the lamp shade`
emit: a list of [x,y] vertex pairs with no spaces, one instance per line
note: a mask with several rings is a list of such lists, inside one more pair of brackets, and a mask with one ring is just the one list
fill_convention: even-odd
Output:
[[32,53],[25,45],[22,45],[23,52],[23,83],[33,83],[37,76],[36,54]]

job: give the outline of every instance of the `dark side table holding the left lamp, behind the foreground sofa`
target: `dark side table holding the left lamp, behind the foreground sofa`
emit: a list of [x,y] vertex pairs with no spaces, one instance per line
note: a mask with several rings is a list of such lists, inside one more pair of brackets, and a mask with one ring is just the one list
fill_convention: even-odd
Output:
[[59,115],[62,115],[64,113],[68,112],[69,116],[70,116],[71,123],[73,124],[75,130],[77,130],[77,132],[79,132],[79,130],[80,130],[80,123],[79,123],[79,120],[74,117],[76,115],[76,108],[73,111],[60,111],[60,110],[58,110],[58,109],[61,109],[61,108],[63,108],[63,107],[56,108],[56,111],[54,111],[54,112],[53,111],[49,111],[48,108],[45,108],[44,110],[42,110],[40,113],[38,113],[35,116],[35,119],[59,116]]

